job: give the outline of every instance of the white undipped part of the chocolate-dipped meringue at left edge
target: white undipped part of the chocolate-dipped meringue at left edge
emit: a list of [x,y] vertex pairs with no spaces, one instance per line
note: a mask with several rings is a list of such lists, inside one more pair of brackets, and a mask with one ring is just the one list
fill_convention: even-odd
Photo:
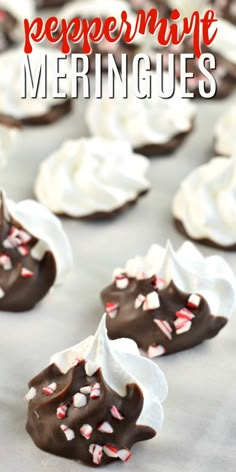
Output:
[[47,251],[52,252],[56,261],[56,283],[62,283],[72,269],[73,260],[71,246],[60,220],[34,200],[19,203],[7,200],[6,206],[9,214],[39,240],[31,255],[41,260]]

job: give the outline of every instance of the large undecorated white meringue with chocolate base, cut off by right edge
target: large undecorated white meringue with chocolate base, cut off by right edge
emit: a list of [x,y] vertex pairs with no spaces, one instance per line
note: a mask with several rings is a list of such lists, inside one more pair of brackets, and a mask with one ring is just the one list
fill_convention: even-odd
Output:
[[236,250],[236,156],[218,157],[182,182],[173,202],[178,230],[208,246]]

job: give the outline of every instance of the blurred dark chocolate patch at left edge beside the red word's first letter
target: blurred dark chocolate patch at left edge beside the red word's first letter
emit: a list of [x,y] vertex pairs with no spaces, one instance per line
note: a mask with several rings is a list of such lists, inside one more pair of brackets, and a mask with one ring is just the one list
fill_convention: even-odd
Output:
[[15,44],[14,29],[16,26],[16,18],[0,7],[0,53],[7,51]]

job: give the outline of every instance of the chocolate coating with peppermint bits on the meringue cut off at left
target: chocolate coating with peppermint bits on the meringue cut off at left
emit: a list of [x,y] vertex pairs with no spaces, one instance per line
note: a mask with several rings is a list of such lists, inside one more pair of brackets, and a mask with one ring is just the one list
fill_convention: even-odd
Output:
[[[49,251],[42,260],[34,259],[31,251],[38,239],[25,232],[7,213],[2,195],[0,204],[0,311],[27,311],[33,308],[53,285],[56,277],[55,259]],[[18,231],[22,230],[28,235],[24,243],[20,239],[21,236],[18,236]],[[6,247],[6,242],[9,246],[9,241],[12,241],[13,234],[16,236],[14,242],[10,243],[12,247]]]

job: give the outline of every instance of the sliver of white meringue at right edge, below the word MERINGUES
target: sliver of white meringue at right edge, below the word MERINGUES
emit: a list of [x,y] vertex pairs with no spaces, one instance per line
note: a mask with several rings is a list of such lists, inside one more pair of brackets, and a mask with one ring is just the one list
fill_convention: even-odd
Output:
[[236,105],[230,107],[217,122],[214,147],[219,156],[236,155]]

